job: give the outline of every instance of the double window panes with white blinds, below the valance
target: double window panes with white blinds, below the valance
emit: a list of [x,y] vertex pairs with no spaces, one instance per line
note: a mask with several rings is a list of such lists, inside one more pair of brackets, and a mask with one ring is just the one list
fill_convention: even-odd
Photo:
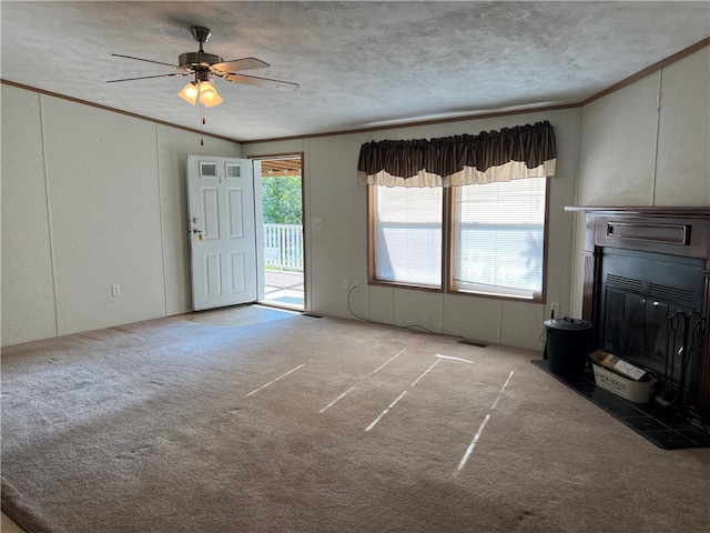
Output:
[[546,178],[453,188],[369,187],[371,282],[542,298]]

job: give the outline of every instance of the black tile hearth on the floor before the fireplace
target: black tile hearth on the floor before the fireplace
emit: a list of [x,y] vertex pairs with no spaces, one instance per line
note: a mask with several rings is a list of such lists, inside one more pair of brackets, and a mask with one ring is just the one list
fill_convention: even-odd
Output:
[[671,433],[672,420],[653,418],[656,403],[652,400],[648,403],[633,403],[601,389],[597,386],[591,370],[586,370],[581,375],[567,376],[551,373],[545,360],[530,362],[658,447],[663,450],[710,447],[710,435],[704,434],[700,428],[690,424],[682,416],[677,416]]

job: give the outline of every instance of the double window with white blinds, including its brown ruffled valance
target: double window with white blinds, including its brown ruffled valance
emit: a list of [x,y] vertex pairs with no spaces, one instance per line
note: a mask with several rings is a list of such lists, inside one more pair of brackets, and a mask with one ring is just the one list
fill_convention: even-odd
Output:
[[368,185],[368,281],[542,302],[548,121],[361,148]]

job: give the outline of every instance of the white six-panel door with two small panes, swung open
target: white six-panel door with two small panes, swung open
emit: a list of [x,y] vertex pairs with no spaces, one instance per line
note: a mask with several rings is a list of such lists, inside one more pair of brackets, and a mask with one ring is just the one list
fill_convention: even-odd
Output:
[[247,159],[187,155],[195,311],[258,299],[254,173]]

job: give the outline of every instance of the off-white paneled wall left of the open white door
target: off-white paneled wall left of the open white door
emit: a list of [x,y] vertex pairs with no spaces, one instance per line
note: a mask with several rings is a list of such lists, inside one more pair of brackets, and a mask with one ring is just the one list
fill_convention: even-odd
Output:
[[1,98],[2,345],[190,311],[185,159],[240,145],[11,86]]

